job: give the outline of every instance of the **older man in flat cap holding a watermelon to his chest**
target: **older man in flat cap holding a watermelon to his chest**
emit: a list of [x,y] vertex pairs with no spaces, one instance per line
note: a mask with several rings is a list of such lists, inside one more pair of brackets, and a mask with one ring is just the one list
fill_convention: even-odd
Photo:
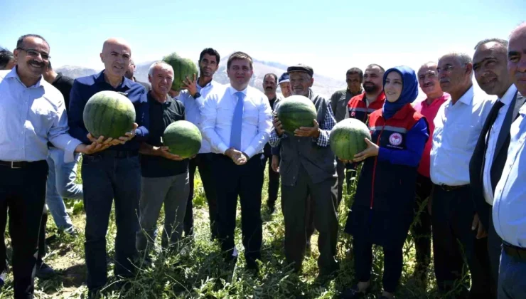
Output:
[[[335,261],[338,237],[336,215],[336,159],[329,147],[329,133],[336,124],[329,100],[311,90],[313,69],[294,65],[287,69],[292,95],[310,99],[318,111],[312,127],[299,127],[294,135],[284,132],[281,122],[274,117],[270,134],[272,147],[280,146],[281,206],[285,220],[285,257],[301,271],[306,248],[307,196],[311,196],[314,226],[319,231],[318,267],[320,276],[338,270]],[[279,109],[279,103],[278,107]]]

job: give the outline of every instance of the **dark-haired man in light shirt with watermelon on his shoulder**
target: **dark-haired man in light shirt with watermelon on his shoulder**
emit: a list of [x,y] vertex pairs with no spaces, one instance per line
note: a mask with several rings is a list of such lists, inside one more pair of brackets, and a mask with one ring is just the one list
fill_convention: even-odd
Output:
[[[203,100],[216,88],[222,85],[212,80],[214,73],[219,67],[219,53],[213,48],[205,48],[199,56],[199,78],[193,80],[186,78],[183,85],[186,89],[179,93],[178,100],[185,106],[186,120],[192,122],[202,130],[202,120],[200,106]],[[188,203],[186,204],[186,214],[183,221],[184,232],[186,236],[193,235],[193,184],[195,169],[199,168],[199,176],[205,189],[206,201],[208,201],[208,214],[210,216],[210,234],[212,239],[218,238],[218,225],[216,223],[216,214],[218,211],[217,200],[215,196],[215,184],[212,177],[212,157],[210,152],[210,142],[205,138],[201,141],[201,148],[194,159],[190,159],[188,170],[190,172],[190,192],[188,194]]]

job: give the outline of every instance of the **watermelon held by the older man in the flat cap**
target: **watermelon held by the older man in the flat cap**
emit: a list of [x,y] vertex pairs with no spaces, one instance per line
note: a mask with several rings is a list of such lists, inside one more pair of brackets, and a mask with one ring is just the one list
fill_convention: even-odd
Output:
[[277,115],[283,130],[293,135],[299,127],[313,127],[316,119],[316,107],[303,95],[292,95],[279,103]]

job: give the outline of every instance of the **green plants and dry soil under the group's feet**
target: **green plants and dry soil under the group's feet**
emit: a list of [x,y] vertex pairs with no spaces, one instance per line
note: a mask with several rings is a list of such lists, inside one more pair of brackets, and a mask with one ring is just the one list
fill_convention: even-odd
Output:
[[[304,271],[301,275],[291,273],[284,263],[284,225],[279,201],[277,210],[270,215],[264,201],[267,200],[267,184],[263,190],[262,218],[263,218],[263,262],[259,274],[245,271],[245,260],[240,258],[235,266],[222,261],[218,243],[210,242],[208,226],[208,210],[200,179],[195,179],[195,237],[193,241],[184,240],[181,253],[166,253],[157,246],[155,248],[155,263],[152,268],[140,268],[131,283],[129,290],[118,290],[114,285],[116,279],[110,280],[104,290],[107,298],[334,298],[338,291],[350,286],[353,280],[353,256],[348,252],[350,236],[344,234],[343,226],[350,206],[351,195],[345,195],[340,205],[340,236],[338,238],[338,260],[340,271],[338,276],[329,283],[318,283],[318,267],[316,258],[318,249],[317,233],[312,238],[312,254],[304,261]],[[267,182],[267,177],[265,177]],[[68,201],[68,211],[72,215],[75,228],[83,231],[85,214],[82,203]],[[238,209],[239,205],[238,205]],[[236,229],[237,248],[242,251],[240,214],[238,213]],[[159,221],[161,229],[161,219]],[[114,253],[114,236],[116,227],[114,214],[109,222],[107,234],[107,251],[109,256]],[[36,298],[85,298],[85,260],[84,236],[76,237],[59,234],[53,219],[48,221],[48,236],[58,236],[55,243],[48,247],[45,262],[53,266],[59,275],[52,280],[36,279]],[[6,236],[9,244],[9,236]],[[160,243],[158,238],[157,243]],[[382,248],[374,248],[374,264],[372,274],[372,292],[368,298],[377,298],[381,292],[383,269]],[[111,258],[110,258],[111,259]],[[436,293],[433,268],[431,264],[428,273],[428,287],[413,280],[414,249],[412,237],[409,236],[404,246],[404,268],[401,285],[397,290],[397,298],[439,298]],[[109,263],[108,275],[113,275],[113,265]],[[6,286],[1,290],[0,298],[12,298],[12,273],[9,273]]]

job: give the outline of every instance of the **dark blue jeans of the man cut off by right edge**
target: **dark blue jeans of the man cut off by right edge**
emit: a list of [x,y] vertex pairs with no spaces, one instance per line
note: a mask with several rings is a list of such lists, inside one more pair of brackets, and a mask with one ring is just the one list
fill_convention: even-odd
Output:
[[526,261],[500,254],[498,271],[498,299],[526,298]]

